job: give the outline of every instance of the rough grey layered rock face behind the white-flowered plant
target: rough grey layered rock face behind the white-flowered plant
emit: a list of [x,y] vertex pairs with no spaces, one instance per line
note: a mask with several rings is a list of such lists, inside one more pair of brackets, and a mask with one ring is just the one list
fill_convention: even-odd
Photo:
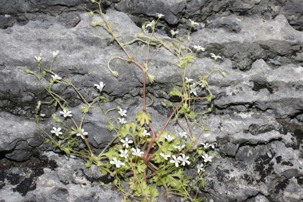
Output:
[[[108,0],[101,6],[122,42],[137,38],[142,24],[157,19],[157,13],[165,15],[156,26],[165,43],[171,40],[171,29],[180,31],[177,37],[187,36],[188,19],[200,23],[192,30],[189,44],[205,47],[192,68],[194,80],[211,69],[210,53],[222,56],[216,67],[227,77],[214,73],[208,80],[214,95],[206,122],[211,130],[200,139],[200,143],[217,142],[218,158],[207,168],[202,190],[208,199],[303,200],[301,0]],[[88,18],[88,12],[97,8],[88,0],[0,2],[0,201],[121,200],[117,193],[98,186],[99,181],[110,183],[113,178],[102,176],[96,167],[85,168],[82,159],[65,158],[44,143],[36,127],[35,107],[37,101],[51,97],[33,75],[23,72],[25,68],[37,71],[35,56],[40,53],[43,68],[49,68],[51,52],[60,50],[53,64],[60,77],[73,83],[89,102],[98,96],[94,84],[103,81],[110,99],[105,109],[120,105],[128,111],[127,121],[136,121],[132,117],[142,110],[142,71],[134,64],[112,60],[112,69],[120,74],[118,79],[112,77],[108,60],[125,54],[104,29],[89,26],[101,19]],[[145,62],[144,44],[125,48],[140,64]],[[147,87],[154,98],[148,113],[157,123],[155,130],[161,130],[171,113],[161,102],[174,101],[168,93],[181,81],[175,60],[163,47],[151,48],[149,73],[156,82]],[[75,121],[80,122],[84,107],[80,97],[70,87],[53,89],[69,102]],[[201,89],[197,94],[206,92]],[[209,106],[197,103],[196,107]],[[45,114],[41,127],[52,130],[52,114],[59,115],[59,110],[42,105],[41,112]],[[93,108],[84,123],[88,142],[96,151],[114,137],[101,113]],[[167,130],[180,128],[172,124]]]

